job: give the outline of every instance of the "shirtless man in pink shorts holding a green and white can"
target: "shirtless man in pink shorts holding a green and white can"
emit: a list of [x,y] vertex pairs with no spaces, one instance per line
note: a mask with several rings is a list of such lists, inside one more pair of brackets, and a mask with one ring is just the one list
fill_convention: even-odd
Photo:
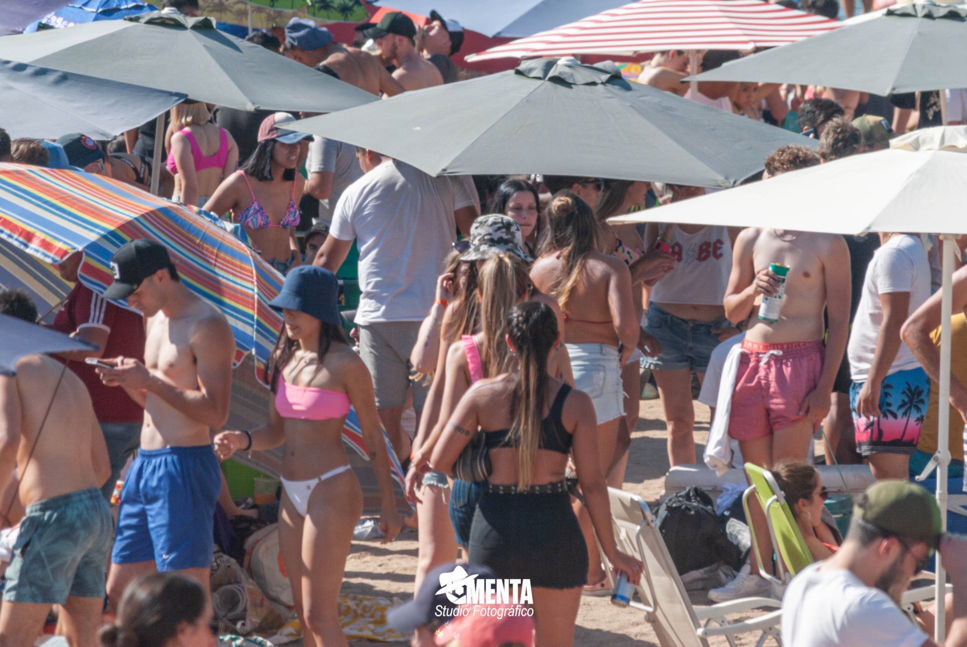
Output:
[[[808,149],[783,146],[766,160],[763,178],[818,162]],[[770,263],[789,268],[775,322],[758,316],[762,298],[777,295],[780,285]],[[730,321],[747,322],[728,419],[729,436],[739,441],[747,462],[769,469],[784,459],[806,458],[809,440],[830,410],[849,335],[850,291],[849,250],[842,236],[754,227],[739,233],[723,305]],[[829,318],[825,348],[824,309]],[[772,548],[765,515],[753,506],[751,516],[766,554],[767,546]],[[768,589],[752,562],[751,572],[712,589],[709,599],[726,602]]]

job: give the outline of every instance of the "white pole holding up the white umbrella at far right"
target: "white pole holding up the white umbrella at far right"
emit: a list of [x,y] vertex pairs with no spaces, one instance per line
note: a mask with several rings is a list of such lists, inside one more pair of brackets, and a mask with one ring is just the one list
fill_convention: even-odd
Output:
[[[938,407],[937,422],[937,506],[940,508],[940,519],[943,529],[947,530],[947,468],[951,463],[950,425],[951,407],[947,405],[951,399],[951,314],[953,301],[953,239],[950,234],[941,237],[944,242],[944,282],[941,287],[940,298],[940,407]],[[936,610],[934,611],[934,634],[938,644],[944,642],[945,607],[944,596],[947,581],[944,567],[941,564],[940,553],[936,555]]]

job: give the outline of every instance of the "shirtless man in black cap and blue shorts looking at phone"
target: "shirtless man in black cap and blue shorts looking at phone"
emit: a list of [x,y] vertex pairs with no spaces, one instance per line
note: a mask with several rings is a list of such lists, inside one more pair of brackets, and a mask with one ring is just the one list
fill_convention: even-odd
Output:
[[144,406],[141,451],[121,492],[107,595],[117,606],[133,578],[181,572],[208,591],[215,504],[221,489],[210,428],[228,418],[235,343],[221,313],[178,278],[167,250],[147,239],[111,259],[104,292],[128,299],[145,319],[145,363],[128,357],[99,368]]

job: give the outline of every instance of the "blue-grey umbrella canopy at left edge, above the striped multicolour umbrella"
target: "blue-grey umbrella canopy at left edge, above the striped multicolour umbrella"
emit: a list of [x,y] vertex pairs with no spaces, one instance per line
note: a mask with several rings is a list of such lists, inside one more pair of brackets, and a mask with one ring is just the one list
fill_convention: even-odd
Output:
[[83,132],[110,139],[184,99],[177,92],[0,60],[3,128],[12,138]]

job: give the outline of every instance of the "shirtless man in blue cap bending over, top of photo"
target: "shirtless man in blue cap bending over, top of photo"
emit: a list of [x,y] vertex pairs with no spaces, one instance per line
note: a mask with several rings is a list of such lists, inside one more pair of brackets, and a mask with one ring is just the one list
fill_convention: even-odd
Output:
[[393,97],[403,91],[379,59],[362,49],[334,42],[328,29],[307,18],[292,18],[285,25],[282,54],[377,97],[380,92]]

